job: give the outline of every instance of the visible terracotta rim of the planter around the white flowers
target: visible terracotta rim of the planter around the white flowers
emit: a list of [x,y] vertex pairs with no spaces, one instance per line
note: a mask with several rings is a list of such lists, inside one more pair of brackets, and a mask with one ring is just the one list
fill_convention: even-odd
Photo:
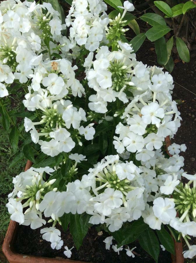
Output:
[[[165,139],[166,149],[171,144],[169,136]],[[167,151],[167,150],[166,150]],[[168,153],[168,151],[167,151]],[[169,154],[169,153],[168,153]],[[32,162],[27,160],[24,171],[27,171],[32,166]],[[2,245],[2,251],[10,263],[59,263],[59,262],[70,262],[70,263],[82,263],[82,261],[74,261],[63,258],[48,258],[48,257],[35,257],[23,254],[18,254],[12,251],[12,244],[15,241],[16,232],[18,229],[18,223],[10,220],[6,236]],[[184,263],[182,241],[176,242],[174,240],[175,255],[171,255],[173,263]],[[84,262],[83,263],[87,263]]]

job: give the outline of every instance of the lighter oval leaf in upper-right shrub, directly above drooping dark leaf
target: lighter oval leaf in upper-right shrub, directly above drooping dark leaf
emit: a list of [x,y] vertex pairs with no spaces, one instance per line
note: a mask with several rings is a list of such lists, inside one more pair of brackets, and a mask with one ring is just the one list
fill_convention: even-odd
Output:
[[155,27],[150,28],[146,31],[146,37],[152,42],[167,34],[171,28],[163,25],[158,25]]

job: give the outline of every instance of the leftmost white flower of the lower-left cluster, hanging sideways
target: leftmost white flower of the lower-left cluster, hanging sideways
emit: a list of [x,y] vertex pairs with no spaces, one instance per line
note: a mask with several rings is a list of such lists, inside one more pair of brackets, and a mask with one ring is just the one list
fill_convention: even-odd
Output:
[[8,208],[8,212],[11,214],[10,219],[18,222],[19,224],[24,223],[22,204],[13,198],[9,198],[8,201],[9,203],[6,204],[6,207]]

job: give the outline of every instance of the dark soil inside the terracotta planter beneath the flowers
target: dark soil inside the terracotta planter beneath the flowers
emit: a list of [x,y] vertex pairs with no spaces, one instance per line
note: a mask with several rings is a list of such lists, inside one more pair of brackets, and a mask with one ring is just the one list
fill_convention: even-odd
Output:
[[[49,227],[50,224],[46,224],[45,227]],[[61,231],[61,237],[64,241],[64,245],[60,250],[53,250],[50,247],[50,242],[42,239],[40,229],[30,229],[29,226],[19,226],[17,231],[16,240],[14,242],[13,249],[19,254],[33,255],[39,257],[50,257],[50,258],[67,258],[64,256],[64,246],[68,248],[74,246],[72,236],[68,231],[64,232],[61,226],[57,226]],[[106,250],[105,243],[103,240],[108,236],[108,233],[103,231],[103,235],[97,234],[96,227],[93,226],[89,229],[86,237],[83,240],[83,246],[76,250],[75,246],[71,250],[72,260],[80,260],[93,263],[153,263],[154,260],[148,253],[146,253],[139,242],[135,241],[129,245],[129,248],[136,247],[134,249],[135,257],[128,257],[126,251],[123,249],[118,253],[114,252],[113,249]],[[115,241],[113,241],[115,244]],[[171,254],[167,251],[162,251],[160,248],[159,263],[171,263]]]

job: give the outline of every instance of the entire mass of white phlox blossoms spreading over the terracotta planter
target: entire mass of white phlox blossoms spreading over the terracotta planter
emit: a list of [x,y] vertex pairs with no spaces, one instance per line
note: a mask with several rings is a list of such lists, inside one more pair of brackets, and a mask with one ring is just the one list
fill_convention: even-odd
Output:
[[[190,252],[184,256],[193,256],[186,235],[196,236],[196,177],[181,168],[184,144],[169,146],[169,158],[163,152],[165,138],[174,137],[181,120],[171,98],[173,79],[162,68],[137,61],[132,46],[120,40],[123,17],[134,7],[125,1],[123,9],[122,16],[109,20],[102,0],[76,0],[62,25],[49,3],[1,2],[0,97],[8,95],[13,81],[28,87],[23,104],[34,117],[25,117],[25,131],[43,153],[63,158],[55,169],[31,168],[16,176],[6,206],[11,219],[32,229],[46,224],[42,212],[51,217],[53,226],[41,233],[52,248],[63,245],[55,224],[71,212],[87,213],[91,224],[106,224],[111,232],[140,217],[152,229],[169,224],[187,242]],[[68,37],[62,35],[66,26]],[[108,137],[118,154],[106,151],[77,177],[78,164],[87,160],[77,146],[83,149],[87,141],[93,146],[103,121],[114,127]],[[53,188],[56,179],[44,182],[43,173],[58,175],[68,159],[63,189]],[[185,187],[182,175],[190,180]],[[133,256],[129,248],[127,253]]]

